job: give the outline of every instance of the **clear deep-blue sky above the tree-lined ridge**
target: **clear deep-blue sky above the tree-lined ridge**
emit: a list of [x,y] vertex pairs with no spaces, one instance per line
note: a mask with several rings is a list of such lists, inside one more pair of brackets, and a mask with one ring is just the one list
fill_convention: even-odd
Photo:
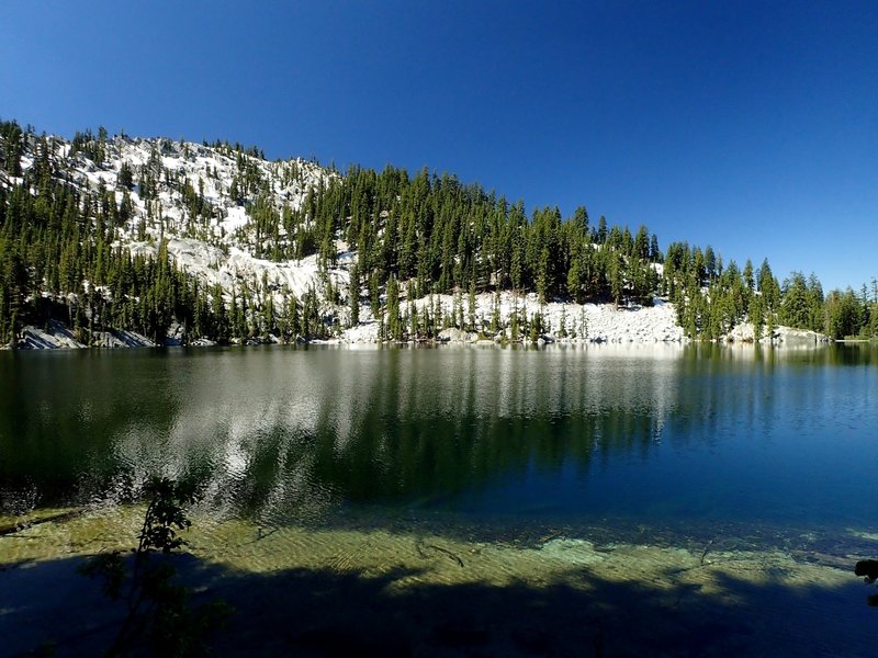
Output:
[[455,172],[878,276],[878,2],[10,2],[0,116]]

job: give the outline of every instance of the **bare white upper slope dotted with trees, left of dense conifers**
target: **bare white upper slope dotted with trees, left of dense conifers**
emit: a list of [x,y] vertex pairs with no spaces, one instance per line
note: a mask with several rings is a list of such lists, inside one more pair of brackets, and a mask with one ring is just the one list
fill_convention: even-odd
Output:
[[[69,152],[69,146],[61,149],[59,155]],[[317,275],[314,257],[277,263],[252,256],[257,238],[250,230],[247,207],[256,202],[256,194],[236,193],[235,188],[243,186],[240,181],[246,175],[259,180],[260,189],[268,192],[260,200],[268,200],[282,213],[284,208],[301,208],[309,191],[337,174],[301,159],[269,162],[226,147],[122,137],[108,143],[106,158],[100,167],[81,155],[71,163],[74,179],[80,185],[115,190],[120,204],[124,197],[119,182],[123,163],[135,172],[151,170],[158,178],[157,194],[149,198],[143,198],[142,185],[135,185],[130,193],[134,213],[121,227],[119,241],[132,253],[156,253],[165,238],[168,254],[178,266],[209,285],[218,283],[227,299],[235,285],[244,281],[256,282],[257,286],[264,282],[275,291],[286,286],[297,297],[308,290],[325,293],[327,279]],[[188,213],[187,200],[179,191],[187,183],[210,204],[210,219]],[[344,269],[330,271],[328,280],[345,286],[348,282]]]

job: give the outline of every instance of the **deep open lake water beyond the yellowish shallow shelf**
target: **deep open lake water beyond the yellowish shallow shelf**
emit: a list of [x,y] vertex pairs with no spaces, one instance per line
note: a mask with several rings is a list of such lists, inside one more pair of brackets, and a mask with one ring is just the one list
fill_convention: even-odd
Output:
[[867,347],[0,354],[5,508],[199,470],[224,514],[878,519]]

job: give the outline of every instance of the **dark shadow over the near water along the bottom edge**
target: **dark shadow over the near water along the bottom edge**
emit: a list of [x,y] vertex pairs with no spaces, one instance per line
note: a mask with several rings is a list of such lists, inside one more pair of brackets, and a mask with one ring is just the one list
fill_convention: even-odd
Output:
[[[119,610],[76,575],[78,564],[0,570],[0,656],[105,647]],[[719,575],[707,591],[674,570],[632,581],[576,568],[540,587],[419,585],[424,570],[403,567],[239,572],[191,555],[180,557],[179,570],[196,600],[219,597],[236,611],[213,635],[217,656],[874,655],[866,631],[876,611],[853,574],[841,588]]]

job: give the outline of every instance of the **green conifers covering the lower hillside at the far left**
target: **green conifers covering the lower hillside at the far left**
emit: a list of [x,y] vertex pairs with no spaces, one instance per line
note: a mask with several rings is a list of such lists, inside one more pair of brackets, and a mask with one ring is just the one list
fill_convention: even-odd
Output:
[[[4,157],[15,147],[10,136],[21,139],[16,128],[0,128]],[[227,334],[223,305],[212,305],[211,291],[171,265],[164,245],[151,258],[113,246],[124,197],[117,204],[112,191],[78,191],[52,159],[50,140],[31,138],[34,166],[20,184],[0,188],[0,342],[12,340],[25,320],[52,319],[86,342],[110,327],[161,340],[175,320],[196,333]],[[100,143],[92,143],[98,139],[83,147],[99,157]]]

